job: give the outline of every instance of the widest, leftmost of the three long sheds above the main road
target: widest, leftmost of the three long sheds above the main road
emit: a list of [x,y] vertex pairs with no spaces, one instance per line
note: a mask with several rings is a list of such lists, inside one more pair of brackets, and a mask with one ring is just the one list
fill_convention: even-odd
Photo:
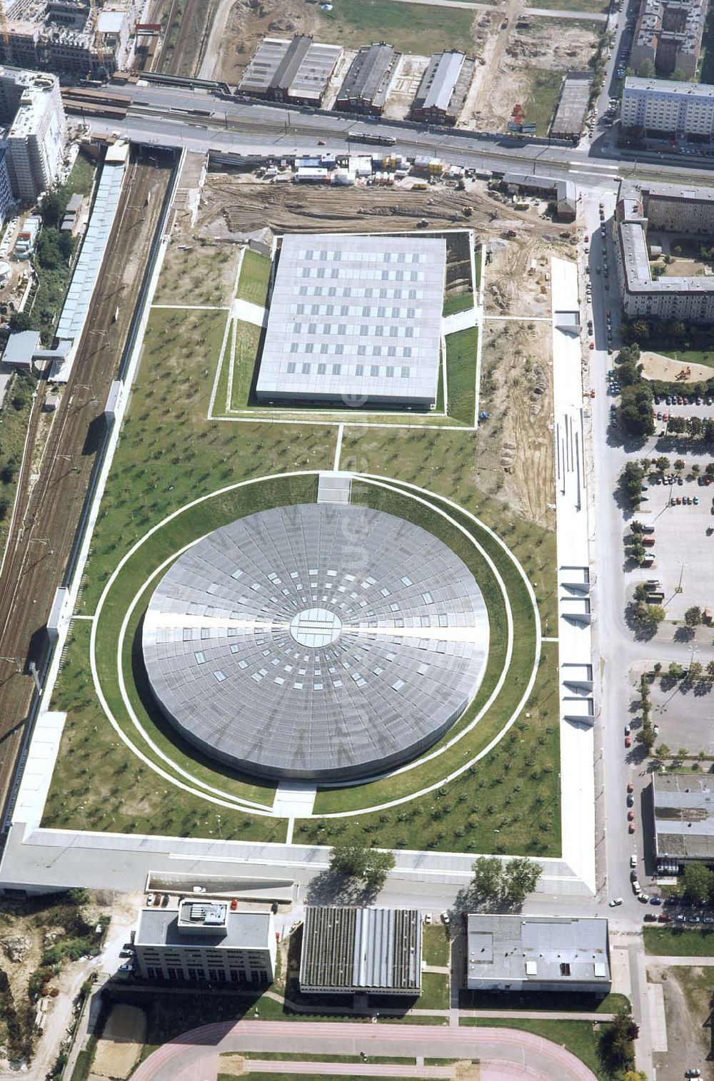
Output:
[[304,35],[263,38],[238,85],[238,93],[272,102],[320,106],[341,45],[325,45]]

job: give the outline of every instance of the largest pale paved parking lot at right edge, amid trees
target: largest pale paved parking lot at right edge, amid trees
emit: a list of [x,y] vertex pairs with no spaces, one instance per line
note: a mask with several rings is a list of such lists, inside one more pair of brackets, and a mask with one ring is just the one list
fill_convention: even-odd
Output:
[[[635,572],[633,586],[659,579],[669,619],[684,619],[695,604],[714,612],[714,484],[702,485],[683,476],[682,484],[650,480],[647,488],[637,518],[645,525],[654,525],[654,563]],[[682,503],[672,506],[671,499]]]

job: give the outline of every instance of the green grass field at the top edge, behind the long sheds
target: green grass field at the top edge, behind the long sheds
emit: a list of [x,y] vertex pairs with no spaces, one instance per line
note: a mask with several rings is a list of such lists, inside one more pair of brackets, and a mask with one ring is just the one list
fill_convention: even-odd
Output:
[[388,41],[404,53],[428,56],[445,49],[473,55],[473,15],[464,9],[391,3],[389,0],[349,0],[332,11],[317,12],[316,37],[353,49],[366,41]]

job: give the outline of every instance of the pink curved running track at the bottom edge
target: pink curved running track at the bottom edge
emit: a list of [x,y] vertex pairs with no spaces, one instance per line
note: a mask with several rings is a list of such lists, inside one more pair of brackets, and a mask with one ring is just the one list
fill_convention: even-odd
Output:
[[[594,1081],[591,1070],[565,1047],[516,1029],[259,1020],[204,1025],[184,1032],[155,1051],[138,1067],[133,1081],[176,1081],[178,1077],[213,1081],[215,1072],[208,1071],[215,1070],[216,1053],[265,1050],[322,1055],[365,1052],[368,1056],[463,1056],[507,1064],[518,1071],[516,1076],[532,1070],[529,1076],[550,1081]],[[198,1064],[201,1066],[197,1069]],[[293,1068],[293,1072],[298,1071]]]

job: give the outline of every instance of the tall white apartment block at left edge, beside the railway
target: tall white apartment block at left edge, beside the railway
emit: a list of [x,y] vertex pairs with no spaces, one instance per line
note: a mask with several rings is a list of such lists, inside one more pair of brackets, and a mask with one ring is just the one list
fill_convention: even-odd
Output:
[[0,67],[0,122],[8,173],[16,199],[34,202],[55,183],[67,139],[67,122],[55,76]]

